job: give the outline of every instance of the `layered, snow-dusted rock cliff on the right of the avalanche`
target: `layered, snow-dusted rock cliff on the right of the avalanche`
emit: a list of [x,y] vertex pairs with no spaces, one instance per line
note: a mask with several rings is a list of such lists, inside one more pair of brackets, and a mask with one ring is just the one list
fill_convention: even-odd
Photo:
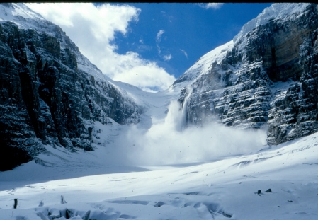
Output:
[[[234,42],[203,56],[174,83],[191,83],[179,98],[188,123],[267,126],[268,144],[318,131],[317,4],[274,4],[266,10]],[[249,27],[253,22],[261,24]]]

